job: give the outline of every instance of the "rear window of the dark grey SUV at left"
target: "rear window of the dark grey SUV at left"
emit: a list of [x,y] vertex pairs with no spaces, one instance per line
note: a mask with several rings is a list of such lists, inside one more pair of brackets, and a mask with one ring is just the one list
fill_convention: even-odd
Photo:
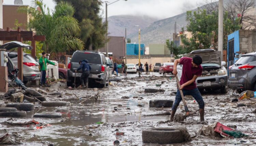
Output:
[[91,64],[101,64],[100,54],[89,53],[89,52],[74,53],[74,55],[72,56],[71,62],[79,62],[84,59],[87,59]]

